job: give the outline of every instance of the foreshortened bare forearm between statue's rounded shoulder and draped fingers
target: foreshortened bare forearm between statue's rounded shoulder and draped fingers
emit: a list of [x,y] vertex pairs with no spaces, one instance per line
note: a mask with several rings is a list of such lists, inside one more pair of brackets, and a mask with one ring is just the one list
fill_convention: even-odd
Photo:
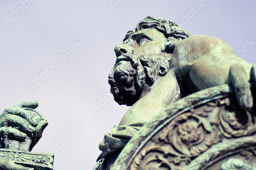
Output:
[[189,77],[200,90],[229,83],[229,69],[237,63],[244,66],[249,80],[252,65],[236,56],[225,53],[216,53],[198,59],[191,67]]

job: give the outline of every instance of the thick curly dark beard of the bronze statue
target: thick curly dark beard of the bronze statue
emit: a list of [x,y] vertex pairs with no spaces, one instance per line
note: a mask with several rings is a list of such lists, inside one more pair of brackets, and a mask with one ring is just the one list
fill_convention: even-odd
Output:
[[163,54],[119,56],[109,75],[114,100],[119,105],[132,106],[139,100],[143,86],[152,86],[155,78],[165,76],[168,69],[169,61]]

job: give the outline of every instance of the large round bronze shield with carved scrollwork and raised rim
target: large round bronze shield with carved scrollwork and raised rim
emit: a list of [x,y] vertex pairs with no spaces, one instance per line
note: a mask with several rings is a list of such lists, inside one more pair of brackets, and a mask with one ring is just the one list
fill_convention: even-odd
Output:
[[202,90],[144,125],[112,169],[256,169],[255,120],[227,85]]

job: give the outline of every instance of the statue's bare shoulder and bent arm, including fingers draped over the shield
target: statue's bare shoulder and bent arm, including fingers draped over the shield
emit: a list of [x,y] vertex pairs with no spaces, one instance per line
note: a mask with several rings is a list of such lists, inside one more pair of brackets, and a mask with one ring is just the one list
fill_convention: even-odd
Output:
[[234,89],[240,107],[252,108],[250,76],[255,81],[255,71],[250,75],[252,64],[237,57],[223,40],[203,35],[182,40],[176,46],[170,64],[175,69],[181,91],[186,94],[227,83]]

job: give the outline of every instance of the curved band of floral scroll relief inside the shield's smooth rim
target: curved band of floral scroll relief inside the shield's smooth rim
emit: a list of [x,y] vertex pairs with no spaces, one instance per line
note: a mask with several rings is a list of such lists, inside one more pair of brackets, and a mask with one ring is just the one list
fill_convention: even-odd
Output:
[[[256,132],[256,117],[252,114],[252,110],[240,109],[234,96],[224,96],[203,104],[195,104],[184,112],[177,112],[168,121],[151,137],[151,140],[144,144],[134,158],[133,162],[136,162],[136,165],[133,163],[131,170],[185,169],[190,162],[208,152],[213,145],[221,146],[222,141],[226,144],[229,140]],[[222,152],[222,154],[228,153]],[[235,154],[240,155],[237,158],[244,162],[243,168],[247,165],[253,169],[256,167],[255,150],[242,149]],[[237,163],[228,161],[230,157],[232,156],[225,158],[212,155],[209,159],[222,161],[222,164],[212,162],[212,165],[218,166],[217,169],[221,169],[221,165],[223,169],[230,169],[232,162]]]

